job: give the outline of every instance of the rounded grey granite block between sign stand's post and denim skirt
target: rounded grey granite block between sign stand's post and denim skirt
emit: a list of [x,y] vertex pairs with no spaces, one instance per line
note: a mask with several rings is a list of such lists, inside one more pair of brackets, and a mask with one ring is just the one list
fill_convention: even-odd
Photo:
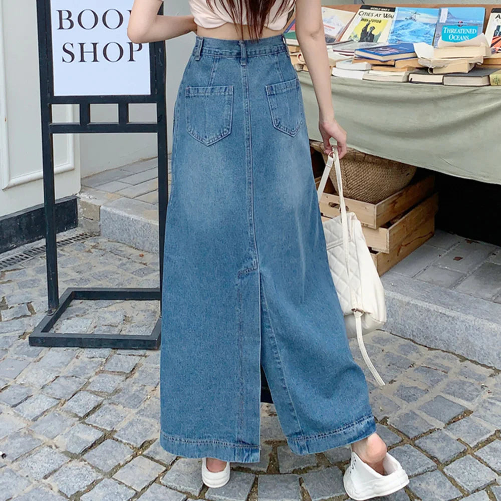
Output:
[[101,206],[101,235],[158,254],[158,209],[132,198],[107,202]]

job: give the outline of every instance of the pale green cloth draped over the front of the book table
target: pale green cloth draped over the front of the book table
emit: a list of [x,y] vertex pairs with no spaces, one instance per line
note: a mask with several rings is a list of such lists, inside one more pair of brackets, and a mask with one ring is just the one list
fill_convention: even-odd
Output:
[[[322,140],[310,74],[298,72],[310,139]],[[462,178],[501,184],[501,86],[455,87],[331,77],[348,146]]]

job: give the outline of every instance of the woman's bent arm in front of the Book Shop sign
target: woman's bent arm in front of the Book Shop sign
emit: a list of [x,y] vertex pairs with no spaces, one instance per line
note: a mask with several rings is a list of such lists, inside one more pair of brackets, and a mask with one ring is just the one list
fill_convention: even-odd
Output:
[[134,0],[127,36],[135,44],[158,42],[195,31],[193,16],[159,16],[162,0]]

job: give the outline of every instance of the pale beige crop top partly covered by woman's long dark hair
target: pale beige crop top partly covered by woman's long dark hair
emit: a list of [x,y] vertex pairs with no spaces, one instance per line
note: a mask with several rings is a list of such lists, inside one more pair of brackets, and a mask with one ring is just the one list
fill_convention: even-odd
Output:
[[[224,23],[233,23],[233,20],[224,10],[224,7],[218,0],[212,0],[211,2],[211,5],[213,6],[215,12],[211,11],[205,0],[188,0],[188,3],[191,14],[194,17],[195,24],[197,24],[198,26],[201,26],[203,28],[216,28],[223,25]],[[285,9],[285,12],[280,15],[275,21],[270,21],[273,20],[273,18],[277,14],[281,3],[281,0],[277,0],[267,17],[265,26],[270,28],[270,30],[282,30],[283,28],[285,28],[289,13],[294,8],[295,0],[288,0],[288,8]],[[243,24],[247,24],[247,17],[245,12],[243,12],[242,20]]]

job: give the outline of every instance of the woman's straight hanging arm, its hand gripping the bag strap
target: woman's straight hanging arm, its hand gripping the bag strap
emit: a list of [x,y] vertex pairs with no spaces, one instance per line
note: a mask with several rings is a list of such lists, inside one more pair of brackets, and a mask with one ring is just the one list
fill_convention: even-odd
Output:
[[330,137],[338,143],[339,157],[346,153],[346,132],[334,118],[331,73],[322,22],[321,0],[296,0],[296,36],[305,58],[319,107],[319,129],[324,151],[329,153]]

